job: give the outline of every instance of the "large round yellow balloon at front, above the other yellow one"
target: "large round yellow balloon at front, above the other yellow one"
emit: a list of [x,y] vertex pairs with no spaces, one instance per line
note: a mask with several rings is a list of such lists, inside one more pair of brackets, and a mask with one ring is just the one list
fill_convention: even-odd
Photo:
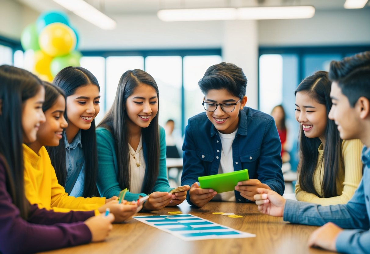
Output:
[[41,31],[38,43],[49,56],[64,56],[76,47],[76,34],[66,24],[51,23]]

